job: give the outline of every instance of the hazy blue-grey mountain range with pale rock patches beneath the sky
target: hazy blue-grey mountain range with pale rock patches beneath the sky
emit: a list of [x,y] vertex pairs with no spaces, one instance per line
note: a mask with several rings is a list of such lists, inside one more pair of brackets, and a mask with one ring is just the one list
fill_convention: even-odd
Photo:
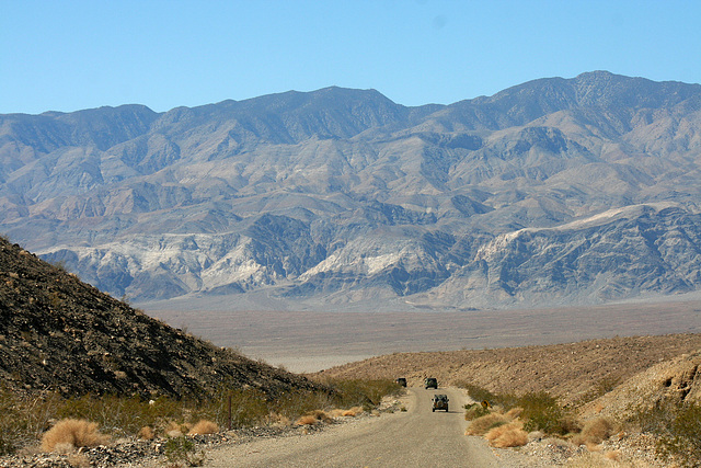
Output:
[[0,232],[116,297],[179,299],[169,307],[689,293],[700,135],[701,85],[605,71],[451,105],[327,88],[162,114],[10,114]]

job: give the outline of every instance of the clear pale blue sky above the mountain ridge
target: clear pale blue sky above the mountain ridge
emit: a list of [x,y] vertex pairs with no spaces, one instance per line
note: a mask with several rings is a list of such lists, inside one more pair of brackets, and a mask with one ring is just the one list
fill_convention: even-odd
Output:
[[701,2],[0,0],[0,113],[329,85],[449,104],[609,70],[701,82]]

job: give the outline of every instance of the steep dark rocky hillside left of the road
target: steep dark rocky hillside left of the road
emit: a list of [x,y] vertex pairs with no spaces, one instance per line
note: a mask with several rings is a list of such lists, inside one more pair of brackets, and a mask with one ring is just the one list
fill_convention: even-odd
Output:
[[275,397],[313,387],[151,319],[4,239],[0,383],[70,396],[204,397],[226,384]]

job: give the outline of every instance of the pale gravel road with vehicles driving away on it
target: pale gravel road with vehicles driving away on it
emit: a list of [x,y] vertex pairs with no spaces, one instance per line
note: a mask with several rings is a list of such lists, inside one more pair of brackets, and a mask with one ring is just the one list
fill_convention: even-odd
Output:
[[[432,411],[434,393],[450,411]],[[366,418],[320,433],[254,441],[207,454],[208,467],[502,467],[483,440],[467,437],[458,389],[410,388],[406,412]]]

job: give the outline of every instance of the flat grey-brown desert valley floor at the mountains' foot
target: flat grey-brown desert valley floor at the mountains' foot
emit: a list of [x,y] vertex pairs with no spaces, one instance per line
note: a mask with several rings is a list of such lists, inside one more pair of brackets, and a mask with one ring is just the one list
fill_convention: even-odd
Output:
[[667,333],[701,333],[701,300],[461,312],[147,312],[291,372],[397,352],[480,350]]

